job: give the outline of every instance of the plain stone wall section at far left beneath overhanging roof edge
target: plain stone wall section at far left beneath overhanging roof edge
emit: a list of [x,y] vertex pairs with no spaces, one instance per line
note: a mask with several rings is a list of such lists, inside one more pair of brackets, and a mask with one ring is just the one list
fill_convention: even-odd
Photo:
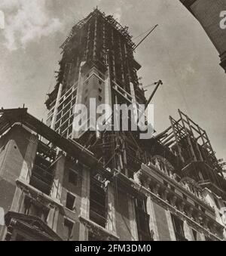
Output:
[[[0,207],[5,214],[14,208],[13,201],[17,190],[16,180],[20,177],[21,171],[26,165],[29,168],[30,162],[25,162],[29,149],[31,134],[19,125],[14,125],[8,134],[0,140]],[[30,149],[29,149],[30,150]],[[17,198],[17,204],[18,204]],[[0,226],[0,240],[5,234],[5,227]]]

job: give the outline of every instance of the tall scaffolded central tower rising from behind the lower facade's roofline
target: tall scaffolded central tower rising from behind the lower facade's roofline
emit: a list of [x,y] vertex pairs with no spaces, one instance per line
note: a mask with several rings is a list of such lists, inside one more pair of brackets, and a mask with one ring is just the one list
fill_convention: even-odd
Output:
[[[89,147],[96,157],[103,157],[105,164],[108,163],[111,168],[111,156],[116,152],[118,169],[127,172],[125,165],[129,162],[131,168],[135,168],[134,159],[137,155],[142,156],[133,141],[138,137],[139,131],[118,132],[116,135],[108,132],[101,134],[100,139],[96,132],[90,132],[90,128],[95,130],[96,127],[92,126],[93,115],[89,113],[90,99],[96,101],[96,106],[105,103],[112,110],[115,104],[137,106],[146,103],[145,93],[137,76],[141,66],[134,59],[135,44],[128,27],[121,26],[112,16],[106,16],[95,9],[72,28],[61,48],[63,57],[60,60],[57,84],[46,102],[49,110],[47,125],[63,137],[76,139]],[[87,116],[90,118],[84,116],[79,123],[73,124],[75,105],[78,104],[87,106]],[[130,115],[128,113],[127,119]],[[98,115],[95,119],[97,118]],[[78,125],[79,128],[75,131],[73,125]],[[125,137],[129,137],[127,142]],[[132,141],[133,145],[130,145]],[[135,150],[130,152],[130,157],[126,156],[126,152],[134,146]]]

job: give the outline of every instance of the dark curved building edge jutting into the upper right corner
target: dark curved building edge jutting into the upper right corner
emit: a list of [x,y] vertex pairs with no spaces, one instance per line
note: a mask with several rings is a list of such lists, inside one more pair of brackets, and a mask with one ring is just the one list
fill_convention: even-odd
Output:
[[223,19],[221,12],[226,11],[226,2],[224,0],[180,0],[180,2],[191,11],[205,29],[218,50],[220,65],[226,72],[226,31],[220,26]]

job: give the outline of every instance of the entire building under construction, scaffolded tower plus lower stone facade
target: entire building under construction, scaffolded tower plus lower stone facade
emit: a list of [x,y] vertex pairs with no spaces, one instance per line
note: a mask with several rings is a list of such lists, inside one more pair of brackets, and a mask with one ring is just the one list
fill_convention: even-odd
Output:
[[61,48],[47,124],[25,108],[0,112],[0,239],[225,239],[224,163],[185,113],[147,140],[75,123],[75,106],[90,99],[147,105],[128,28],[95,9]]

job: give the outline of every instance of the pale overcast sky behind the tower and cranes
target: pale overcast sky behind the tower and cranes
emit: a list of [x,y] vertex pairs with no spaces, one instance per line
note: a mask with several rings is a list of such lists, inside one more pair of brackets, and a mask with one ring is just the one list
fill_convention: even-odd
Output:
[[226,75],[218,52],[179,0],[1,0],[0,106],[25,103],[29,113],[45,119],[59,47],[96,5],[129,26],[134,37],[160,25],[136,51],[143,85],[163,80],[153,100],[155,129],[169,127],[169,116],[178,119],[181,109],[206,130],[217,156],[226,159]]

